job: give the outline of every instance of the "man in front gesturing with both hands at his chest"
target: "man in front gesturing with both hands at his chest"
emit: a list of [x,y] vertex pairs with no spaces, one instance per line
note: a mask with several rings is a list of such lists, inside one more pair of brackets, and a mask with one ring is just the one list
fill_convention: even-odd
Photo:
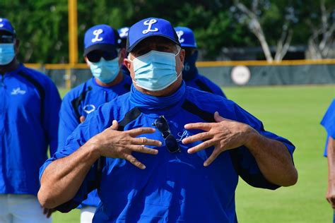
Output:
[[185,85],[184,50],[167,20],[132,25],[127,50],[131,92],[90,114],[41,167],[43,206],[66,212],[98,188],[93,222],[237,222],[239,175],[269,189],[297,181],[292,143],[234,102]]

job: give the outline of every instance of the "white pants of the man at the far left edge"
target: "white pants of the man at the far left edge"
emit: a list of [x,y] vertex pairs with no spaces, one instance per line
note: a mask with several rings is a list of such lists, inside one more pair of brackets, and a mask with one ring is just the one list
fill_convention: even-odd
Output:
[[0,194],[1,223],[51,223],[34,195]]

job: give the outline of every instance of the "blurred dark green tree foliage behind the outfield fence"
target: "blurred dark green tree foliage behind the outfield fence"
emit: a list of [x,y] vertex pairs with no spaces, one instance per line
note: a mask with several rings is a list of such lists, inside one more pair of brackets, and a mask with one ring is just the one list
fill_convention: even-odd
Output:
[[[321,25],[324,20],[321,19],[322,11],[319,11],[320,1],[324,1],[329,15],[328,29]],[[330,40],[334,46],[334,38],[331,39],[331,33],[334,33],[334,0],[252,2],[253,4],[249,4],[247,0],[235,1],[235,4],[233,0],[78,1],[78,59],[83,62],[83,36],[91,26],[104,23],[121,28],[148,17],[165,18],[175,26],[192,28],[199,49],[203,52],[201,59],[216,59],[223,54],[223,48],[258,46],[261,36],[264,38],[261,46],[267,45],[268,48],[266,59],[274,56],[272,59],[281,60],[290,44],[307,46],[309,39],[311,51],[317,46],[318,50],[315,52],[322,55],[326,55],[325,51],[331,45]],[[243,4],[247,11],[243,12],[241,7],[237,7],[238,3]],[[23,50],[19,54],[21,61],[68,63],[67,7],[67,0],[0,1],[0,17],[11,20],[22,40]],[[333,13],[330,12],[331,7]],[[254,16],[251,16],[252,13]],[[253,22],[249,24],[248,21]],[[257,35],[250,32],[245,24],[249,24],[249,28]],[[312,32],[313,28],[333,31]],[[329,37],[327,41],[322,41],[321,36]],[[276,55],[271,55],[271,46],[276,46]]]

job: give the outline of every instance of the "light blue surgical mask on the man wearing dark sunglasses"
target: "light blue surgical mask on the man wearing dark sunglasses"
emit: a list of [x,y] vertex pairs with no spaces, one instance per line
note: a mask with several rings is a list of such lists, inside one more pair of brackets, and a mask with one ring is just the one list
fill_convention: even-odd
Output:
[[111,83],[119,74],[119,57],[106,61],[101,57],[100,61],[93,63],[88,61],[90,64],[90,71],[95,78],[98,78],[103,83]]

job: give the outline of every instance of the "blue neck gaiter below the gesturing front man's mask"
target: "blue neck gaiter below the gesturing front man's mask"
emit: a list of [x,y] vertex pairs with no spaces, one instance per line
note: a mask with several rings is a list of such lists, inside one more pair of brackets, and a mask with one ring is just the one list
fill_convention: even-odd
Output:
[[184,98],[186,97],[185,92],[186,85],[184,81],[182,81],[182,85],[180,85],[180,88],[176,92],[167,97],[146,95],[137,90],[134,85],[131,85],[129,100],[135,107],[148,110],[163,110],[184,102]]

